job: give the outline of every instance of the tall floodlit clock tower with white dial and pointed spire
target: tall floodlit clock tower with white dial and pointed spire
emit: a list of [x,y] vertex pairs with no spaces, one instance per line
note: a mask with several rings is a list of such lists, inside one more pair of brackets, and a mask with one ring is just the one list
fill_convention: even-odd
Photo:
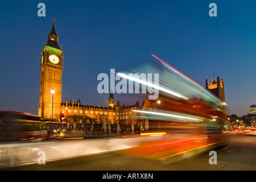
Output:
[[62,69],[63,52],[59,47],[53,21],[53,27],[41,53],[39,117],[57,119],[61,114]]

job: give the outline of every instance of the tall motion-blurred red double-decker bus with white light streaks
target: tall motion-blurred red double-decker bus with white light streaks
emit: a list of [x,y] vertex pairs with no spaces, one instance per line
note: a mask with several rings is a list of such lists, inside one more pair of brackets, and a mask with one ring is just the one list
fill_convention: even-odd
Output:
[[[159,73],[159,96],[147,99],[137,117],[141,117],[142,136],[159,137],[133,148],[131,154],[165,159],[202,148],[225,144],[228,135],[226,106],[209,90],[161,61],[160,65],[147,64],[135,69],[137,73]],[[134,79],[131,79],[134,80]]]

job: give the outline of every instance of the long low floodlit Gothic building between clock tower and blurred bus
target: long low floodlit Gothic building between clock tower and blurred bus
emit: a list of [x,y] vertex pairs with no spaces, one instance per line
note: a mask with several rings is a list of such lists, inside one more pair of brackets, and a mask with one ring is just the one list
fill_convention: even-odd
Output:
[[[113,94],[110,93],[109,105],[85,105],[85,102],[81,104],[80,100],[76,103],[74,101],[68,102],[67,98],[64,103],[61,104],[61,110],[65,113],[64,119],[73,122],[74,117],[77,119],[76,122],[91,122],[100,123],[103,119],[116,125],[118,122],[122,125],[131,125],[134,123],[138,124],[139,118],[136,117],[136,112],[133,110],[141,108],[139,102],[135,105],[121,105],[119,101],[114,104]],[[87,121],[84,119],[87,118]]]

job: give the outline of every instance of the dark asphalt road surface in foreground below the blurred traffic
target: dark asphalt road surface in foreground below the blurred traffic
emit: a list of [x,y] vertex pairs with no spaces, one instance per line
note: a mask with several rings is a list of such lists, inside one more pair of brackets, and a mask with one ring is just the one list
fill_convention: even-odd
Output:
[[254,171],[256,169],[256,136],[231,135],[230,141],[217,152],[217,164],[209,164],[210,151],[171,162],[123,155],[122,151],[81,156],[46,162],[45,165],[30,164],[2,170],[15,171]]

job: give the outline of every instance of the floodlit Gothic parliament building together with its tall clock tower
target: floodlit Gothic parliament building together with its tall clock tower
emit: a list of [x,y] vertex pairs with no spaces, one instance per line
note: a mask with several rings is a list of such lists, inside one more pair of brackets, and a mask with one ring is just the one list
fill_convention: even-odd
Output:
[[[77,121],[82,121],[87,117],[95,122],[105,118],[112,124],[122,121],[129,125],[131,122],[137,123],[137,118],[133,109],[139,108],[139,102],[134,105],[120,104],[117,101],[115,105],[114,94],[110,93],[109,105],[85,105],[77,102],[61,101],[62,88],[62,70],[63,70],[63,52],[58,43],[58,34],[53,26],[48,35],[45,47],[41,53],[41,83],[40,100],[38,106],[39,117],[52,119],[61,119],[61,113],[65,115],[68,121],[76,116]],[[74,120],[74,119],[73,119]]]

